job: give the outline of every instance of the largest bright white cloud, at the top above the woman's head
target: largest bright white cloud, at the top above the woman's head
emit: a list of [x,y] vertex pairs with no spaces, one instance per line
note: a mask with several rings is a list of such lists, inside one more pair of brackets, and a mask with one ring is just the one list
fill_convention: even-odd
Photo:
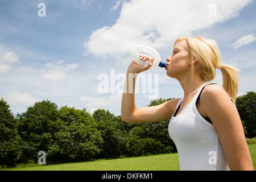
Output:
[[[172,44],[179,36],[212,26],[238,15],[252,0],[131,0],[123,2],[116,23],[102,27],[84,42],[87,53],[94,56],[121,56],[133,44],[160,48]],[[211,5],[211,6],[209,6]],[[212,6],[216,5],[216,6]],[[118,2],[117,5],[118,6]],[[216,16],[210,16],[216,10]]]

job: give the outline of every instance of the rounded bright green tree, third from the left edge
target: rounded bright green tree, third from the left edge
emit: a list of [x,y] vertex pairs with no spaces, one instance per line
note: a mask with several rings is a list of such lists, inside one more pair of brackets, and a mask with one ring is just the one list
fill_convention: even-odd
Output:
[[59,111],[59,131],[54,135],[49,155],[66,162],[96,158],[101,152],[102,138],[93,117],[86,110],[73,107],[61,107]]

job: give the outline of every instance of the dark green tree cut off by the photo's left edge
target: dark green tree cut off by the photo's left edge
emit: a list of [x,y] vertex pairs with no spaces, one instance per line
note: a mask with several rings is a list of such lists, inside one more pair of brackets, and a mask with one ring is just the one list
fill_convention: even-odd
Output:
[[17,119],[3,98],[0,100],[0,165],[15,166],[22,154]]

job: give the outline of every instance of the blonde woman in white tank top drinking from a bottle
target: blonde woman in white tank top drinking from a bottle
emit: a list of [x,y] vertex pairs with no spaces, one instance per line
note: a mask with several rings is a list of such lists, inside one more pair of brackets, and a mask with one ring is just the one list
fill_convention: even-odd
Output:
[[[214,40],[177,39],[172,55],[166,59],[166,72],[180,82],[184,97],[138,109],[134,96],[136,75],[149,69],[154,59],[141,55],[141,60],[150,61],[145,66],[133,61],[127,70],[126,83],[133,84],[126,84],[123,92],[123,121],[143,123],[171,118],[168,130],[177,147],[180,170],[253,170],[234,105],[239,75],[233,67],[221,64]],[[213,80],[217,68],[222,72],[223,88],[207,83]]]

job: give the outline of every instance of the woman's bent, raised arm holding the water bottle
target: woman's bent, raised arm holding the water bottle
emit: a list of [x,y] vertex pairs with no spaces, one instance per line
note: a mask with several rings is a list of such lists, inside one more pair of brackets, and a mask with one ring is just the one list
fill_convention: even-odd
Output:
[[152,65],[152,61],[154,61],[154,59],[150,57],[141,57],[141,59],[144,61],[150,59],[150,62],[142,66],[133,61],[127,70],[125,88],[122,96],[121,119],[122,121],[132,123],[156,122],[170,119],[172,114],[174,114],[179,100],[170,100],[158,106],[143,107],[141,109],[138,109],[135,104],[134,90],[137,74],[149,69]]

